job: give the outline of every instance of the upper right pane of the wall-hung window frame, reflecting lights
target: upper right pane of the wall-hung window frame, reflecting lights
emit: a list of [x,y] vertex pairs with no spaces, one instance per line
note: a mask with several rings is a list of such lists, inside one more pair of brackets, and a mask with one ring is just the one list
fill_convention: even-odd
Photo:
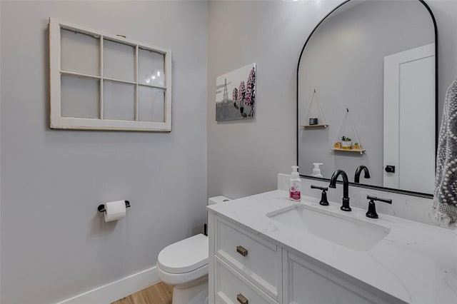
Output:
[[138,82],[165,86],[165,55],[139,49],[138,56]]

